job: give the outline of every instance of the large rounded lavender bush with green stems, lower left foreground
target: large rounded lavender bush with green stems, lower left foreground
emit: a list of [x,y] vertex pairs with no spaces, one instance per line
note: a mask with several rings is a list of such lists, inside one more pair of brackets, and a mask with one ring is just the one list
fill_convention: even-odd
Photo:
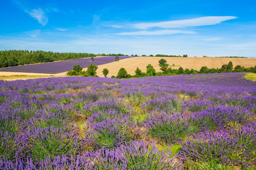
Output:
[[33,159],[42,160],[47,156],[76,155],[80,152],[79,136],[66,127],[34,128],[28,132],[29,155]]

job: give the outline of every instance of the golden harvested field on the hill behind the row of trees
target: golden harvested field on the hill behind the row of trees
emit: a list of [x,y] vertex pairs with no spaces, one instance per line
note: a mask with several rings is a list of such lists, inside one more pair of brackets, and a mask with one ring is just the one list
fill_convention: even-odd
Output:
[[223,64],[227,64],[229,61],[233,62],[234,67],[236,65],[241,65],[247,67],[256,65],[256,58],[217,58],[217,57],[132,57],[126,60],[121,60],[119,62],[112,62],[104,65],[100,65],[97,70],[97,75],[103,76],[103,68],[108,68],[108,76],[117,75],[119,69],[124,67],[128,74],[134,75],[137,67],[141,71],[146,72],[146,66],[152,64],[155,70],[160,71],[158,61],[164,58],[167,63],[175,64],[172,68],[179,68],[182,66],[185,68],[193,68],[200,70],[202,66],[207,66],[208,68],[221,68]]

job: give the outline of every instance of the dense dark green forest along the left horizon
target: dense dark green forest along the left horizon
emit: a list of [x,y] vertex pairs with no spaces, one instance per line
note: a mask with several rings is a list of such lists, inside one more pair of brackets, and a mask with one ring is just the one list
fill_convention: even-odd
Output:
[[52,51],[5,50],[0,51],[0,68],[92,56],[94,57],[96,55],[92,53],[54,53]]

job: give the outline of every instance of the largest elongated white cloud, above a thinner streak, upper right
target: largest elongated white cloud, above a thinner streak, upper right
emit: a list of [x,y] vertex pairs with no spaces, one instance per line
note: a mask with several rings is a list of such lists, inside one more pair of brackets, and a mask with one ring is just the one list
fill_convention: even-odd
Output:
[[192,18],[188,20],[174,20],[165,22],[140,22],[137,24],[129,24],[128,26],[136,29],[149,29],[153,27],[159,28],[184,28],[189,26],[205,26],[215,25],[226,20],[236,19],[236,16],[208,16],[200,18]]

